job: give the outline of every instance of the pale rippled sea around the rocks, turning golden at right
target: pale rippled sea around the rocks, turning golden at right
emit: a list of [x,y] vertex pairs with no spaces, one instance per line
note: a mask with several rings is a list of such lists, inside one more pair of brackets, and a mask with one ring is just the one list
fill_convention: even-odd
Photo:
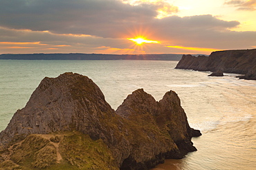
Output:
[[75,72],[91,78],[117,109],[136,89],[156,100],[173,90],[181,98],[198,151],[165,160],[152,170],[256,169],[256,81],[236,74],[176,70],[177,61],[28,61],[0,60],[0,131],[23,108],[44,77]]

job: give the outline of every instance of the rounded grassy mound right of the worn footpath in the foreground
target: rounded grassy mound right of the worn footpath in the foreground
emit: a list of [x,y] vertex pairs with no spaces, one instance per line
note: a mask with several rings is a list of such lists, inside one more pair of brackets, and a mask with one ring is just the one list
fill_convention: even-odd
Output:
[[64,136],[60,152],[73,169],[118,169],[110,149],[100,140],[91,140],[89,135],[75,132]]

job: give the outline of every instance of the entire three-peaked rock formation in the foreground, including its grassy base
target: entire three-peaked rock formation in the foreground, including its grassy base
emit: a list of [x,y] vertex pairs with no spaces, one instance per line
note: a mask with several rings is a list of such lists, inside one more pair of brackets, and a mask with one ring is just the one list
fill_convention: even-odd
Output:
[[[47,137],[56,133],[57,137]],[[0,168],[8,164],[47,168],[66,163],[91,169],[102,164],[106,169],[149,169],[165,158],[183,158],[196,151],[191,138],[200,135],[188,125],[175,92],[167,92],[157,102],[138,89],[114,111],[90,78],[69,72],[44,78],[26,107],[1,131]],[[41,147],[28,149],[33,143]],[[82,149],[88,146],[91,150]],[[47,151],[53,156],[48,162],[36,159]],[[86,156],[88,152],[90,156]],[[33,154],[35,158],[29,157]],[[58,154],[62,163],[57,161]],[[22,163],[25,160],[33,162],[26,165]]]

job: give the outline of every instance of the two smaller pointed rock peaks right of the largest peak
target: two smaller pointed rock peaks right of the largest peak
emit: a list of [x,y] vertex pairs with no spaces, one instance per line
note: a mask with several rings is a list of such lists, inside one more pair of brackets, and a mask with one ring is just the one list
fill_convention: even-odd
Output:
[[[170,136],[179,150],[176,151],[175,156],[169,158],[182,158],[189,151],[196,150],[190,139],[192,136],[200,136],[201,134],[192,135],[196,130],[188,125],[187,116],[181,107],[181,101],[173,91],[166,92],[163,99],[157,102],[153,96],[144,92],[143,89],[137,89],[125,99],[116,113],[137,125],[147,127],[150,123],[154,126],[154,129],[160,130],[163,135]],[[152,140],[155,139],[152,138]],[[190,149],[179,147],[182,142],[186,142]]]

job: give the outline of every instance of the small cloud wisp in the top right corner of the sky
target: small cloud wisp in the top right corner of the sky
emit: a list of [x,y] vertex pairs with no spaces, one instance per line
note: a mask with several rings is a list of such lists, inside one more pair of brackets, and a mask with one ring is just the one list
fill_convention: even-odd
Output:
[[249,1],[227,1],[225,2],[227,5],[237,7],[237,10],[256,10],[256,0]]

